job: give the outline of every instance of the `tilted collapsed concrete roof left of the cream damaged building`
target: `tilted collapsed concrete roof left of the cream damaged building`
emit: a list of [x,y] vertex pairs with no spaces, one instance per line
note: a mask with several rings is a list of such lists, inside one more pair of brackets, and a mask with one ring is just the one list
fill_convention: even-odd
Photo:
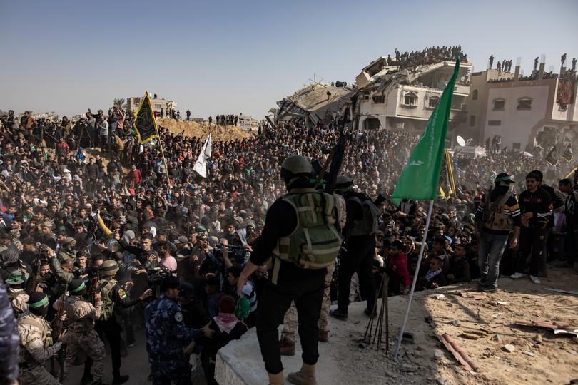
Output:
[[343,112],[354,94],[350,88],[323,83],[306,86],[277,102],[277,121],[302,117],[306,123],[316,125],[321,120],[333,120],[334,114]]

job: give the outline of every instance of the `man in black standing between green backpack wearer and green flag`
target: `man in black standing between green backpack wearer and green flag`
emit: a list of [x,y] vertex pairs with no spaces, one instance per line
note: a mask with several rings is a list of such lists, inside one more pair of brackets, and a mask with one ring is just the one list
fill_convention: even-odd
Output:
[[332,310],[330,315],[343,320],[348,317],[350,282],[354,272],[358,273],[361,295],[367,299],[365,314],[370,315],[373,312],[375,280],[372,276],[372,264],[377,217],[380,215],[377,207],[385,201],[385,196],[380,194],[373,202],[364,193],[355,191],[353,180],[345,175],[337,178],[335,193],[345,198],[347,220],[343,227],[343,253],[339,259],[338,308]]

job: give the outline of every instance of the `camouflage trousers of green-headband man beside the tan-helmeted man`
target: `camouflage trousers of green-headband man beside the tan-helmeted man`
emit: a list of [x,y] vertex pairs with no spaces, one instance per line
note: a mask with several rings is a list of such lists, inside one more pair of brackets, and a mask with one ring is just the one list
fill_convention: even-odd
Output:
[[69,331],[66,333],[66,359],[64,359],[64,378],[69,374],[76,356],[84,351],[92,361],[91,374],[94,381],[101,381],[103,376],[104,344],[98,333],[92,329],[88,334]]

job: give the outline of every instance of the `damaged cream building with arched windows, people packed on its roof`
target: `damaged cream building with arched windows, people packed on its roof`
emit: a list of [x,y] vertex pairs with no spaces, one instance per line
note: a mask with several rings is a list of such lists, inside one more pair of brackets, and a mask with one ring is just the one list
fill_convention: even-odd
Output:
[[[380,57],[362,69],[355,79],[358,103],[355,116],[360,128],[423,132],[427,120],[452,76],[455,61],[439,61],[400,68],[390,57]],[[470,93],[468,73],[472,65],[460,62],[455,83],[448,138],[467,119],[466,99]]]

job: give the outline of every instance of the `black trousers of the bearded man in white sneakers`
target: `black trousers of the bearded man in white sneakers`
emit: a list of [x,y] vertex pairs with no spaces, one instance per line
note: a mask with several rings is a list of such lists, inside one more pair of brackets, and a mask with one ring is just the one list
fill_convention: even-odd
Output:
[[524,272],[528,257],[529,274],[537,277],[546,263],[544,243],[548,229],[537,227],[522,227],[519,232],[519,252],[516,262],[516,272]]

